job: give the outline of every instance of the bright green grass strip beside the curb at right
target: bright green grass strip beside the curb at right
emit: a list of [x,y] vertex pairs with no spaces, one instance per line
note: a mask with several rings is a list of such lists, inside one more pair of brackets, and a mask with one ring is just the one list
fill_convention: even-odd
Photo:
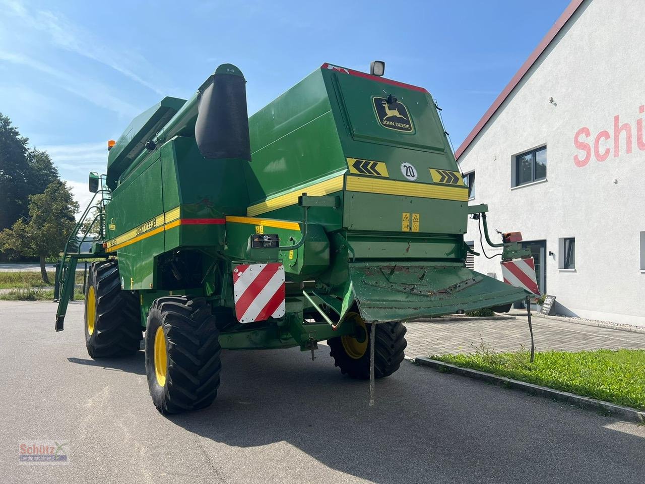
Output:
[[645,350],[431,355],[459,367],[645,410]]

